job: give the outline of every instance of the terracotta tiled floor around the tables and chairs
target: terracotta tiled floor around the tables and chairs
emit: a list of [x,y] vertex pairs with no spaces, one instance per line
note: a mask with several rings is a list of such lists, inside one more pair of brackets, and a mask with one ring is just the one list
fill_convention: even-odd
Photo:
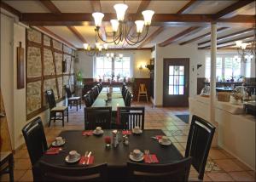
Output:
[[[133,105],[146,105],[145,128],[162,129],[165,134],[176,145],[177,149],[184,154],[189,124],[182,122],[175,117],[177,114],[188,114],[186,108],[153,108],[146,103],[133,103]],[[62,130],[84,128],[84,110],[76,111],[74,108],[69,111],[70,122],[61,127],[61,122],[55,122],[44,132],[48,144],[61,133]],[[197,180],[198,173],[191,168],[189,180]],[[3,175],[1,181],[8,181],[9,176]],[[32,181],[31,164],[26,151],[26,146],[15,153],[15,181]],[[219,148],[212,148],[208,156],[204,181],[255,181],[255,172],[246,165],[231,156],[227,151]]]

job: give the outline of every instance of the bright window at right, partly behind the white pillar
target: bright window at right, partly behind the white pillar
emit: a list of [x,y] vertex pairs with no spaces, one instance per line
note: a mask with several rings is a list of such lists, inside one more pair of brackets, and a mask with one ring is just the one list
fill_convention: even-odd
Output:
[[[211,56],[206,57],[207,78],[211,76]],[[236,54],[218,54],[216,58],[217,81],[225,81],[241,76],[241,58]]]

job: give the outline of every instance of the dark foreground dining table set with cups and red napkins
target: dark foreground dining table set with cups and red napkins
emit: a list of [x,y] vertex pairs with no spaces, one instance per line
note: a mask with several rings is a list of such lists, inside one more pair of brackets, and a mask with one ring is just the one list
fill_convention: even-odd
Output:
[[[81,156],[84,156],[85,151],[91,151],[91,156],[93,156],[94,160],[90,165],[98,165],[105,162],[108,164],[108,181],[125,181],[129,179],[127,162],[131,161],[130,154],[134,149],[139,149],[143,152],[148,150],[151,154],[156,155],[158,162],[152,163],[152,165],[167,164],[183,159],[182,154],[175,145],[161,145],[159,140],[155,139],[155,137],[165,135],[160,129],[145,129],[142,134],[127,133],[128,145],[123,142],[123,135],[126,134],[124,132],[119,130],[117,134],[119,144],[116,147],[114,145],[108,147],[105,143],[105,137],[110,136],[112,138],[113,130],[104,130],[101,135],[87,135],[82,130],[62,131],[59,136],[67,141],[61,146],[63,151],[50,155],[45,153],[40,161],[60,167],[86,168],[86,165],[80,162],[67,163],[65,157],[69,151],[77,151]],[[143,162],[141,161],[141,163]],[[40,169],[38,168],[37,170]]]

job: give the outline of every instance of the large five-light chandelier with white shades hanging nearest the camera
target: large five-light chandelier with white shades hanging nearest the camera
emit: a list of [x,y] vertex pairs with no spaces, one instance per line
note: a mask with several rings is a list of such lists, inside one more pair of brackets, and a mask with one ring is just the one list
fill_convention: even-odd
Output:
[[154,11],[145,10],[142,12],[144,20],[136,20],[134,22],[137,27],[137,32],[133,33],[131,30],[132,25],[134,24],[130,24],[127,20],[125,20],[125,11],[128,9],[128,6],[125,3],[118,3],[113,6],[113,9],[116,11],[117,19],[110,20],[113,31],[113,37],[111,41],[104,40],[99,32],[100,27],[102,26],[102,19],[104,14],[100,12],[92,14],[96,26],[96,42],[98,39],[100,39],[104,43],[114,43],[115,45],[122,43],[123,41],[129,45],[136,45],[137,43],[141,43],[148,35],[148,28],[151,24]]

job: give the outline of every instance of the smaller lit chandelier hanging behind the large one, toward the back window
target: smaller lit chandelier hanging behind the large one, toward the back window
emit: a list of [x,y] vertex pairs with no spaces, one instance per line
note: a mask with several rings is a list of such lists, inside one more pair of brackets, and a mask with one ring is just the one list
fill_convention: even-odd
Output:
[[101,45],[100,43],[96,42],[95,48],[91,48],[88,43],[84,43],[84,50],[89,56],[103,56],[108,50],[108,44],[105,43]]

